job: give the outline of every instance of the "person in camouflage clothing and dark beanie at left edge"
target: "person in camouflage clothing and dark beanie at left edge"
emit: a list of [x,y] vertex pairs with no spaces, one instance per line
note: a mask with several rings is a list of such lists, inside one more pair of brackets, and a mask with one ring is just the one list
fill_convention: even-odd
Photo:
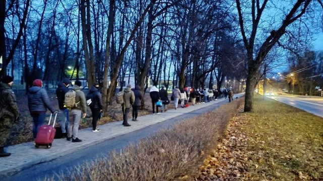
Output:
[[17,100],[11,89],[13,81],[13,77],[3,75],[0,82],[0,157],[11,155],[4,150],[4,147],[10,135],[12,124],[19,121]]

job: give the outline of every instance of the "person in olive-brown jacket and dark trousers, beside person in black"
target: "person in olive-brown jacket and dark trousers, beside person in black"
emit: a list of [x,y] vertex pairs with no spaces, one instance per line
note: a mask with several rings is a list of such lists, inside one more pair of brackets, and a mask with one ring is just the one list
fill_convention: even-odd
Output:
[[129,115],[129,110],[130,107],[134,104],[135,102],[135,94],[133,91],[131,91],[131,84],[128,84],[126,88],[123,89],[124,93],[124,104],[122,104],[122,112],[123,112],[123,125],[124,126],[131,126],[128,123],[128,115]]

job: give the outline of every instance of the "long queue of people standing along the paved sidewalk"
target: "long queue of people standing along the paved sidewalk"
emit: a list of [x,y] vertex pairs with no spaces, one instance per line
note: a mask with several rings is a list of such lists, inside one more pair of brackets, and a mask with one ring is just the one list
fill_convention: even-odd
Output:
[[[19,121],[19,112],[17,107],[17,100],[14,92],[12,91],[13,77],[4,75],[0,82],[0,157],[10,156],[10,153],[4,151],[5,143],[9,137],[10,128],[13,123]],[[102,93],[99,83],[93,83],[89,89],[89,93],[85,97],[83,91],[81,91],[82,83],[76,80],[72,86],[72,92],[75,93],[75,105],[71,108],[66,107],[66,95],[69,94],[72,85],[71,80],[64,78],[62,82],[58,84],[56,89],[56,95],[59,104],[59,110],[55,110],[50,103],[47,92],[43,86],[43,82],[40,79],[35,79],[32,82],[32,87],[29,88],[28,92],[28,108],[30,115],[33,119],[32,133],[33,138],[37,136],[37,132],[41,125],[45,121],[45,113],[47,109],[53,114],[58,113],[60,119],[60,126],[62,129],[62,137],[67,139],[67,141],[72,142],[82,142],[78,138],[78,128],[81,122],[81,118],[86,117],[87,106],[90,107],[92,112],[92,132],[99,132],[97,128],[97,121],[101,116],[103,111],[102,105]],[[172,91],[171,100],[174,103],[174,109],[177,110],[178,104],[180,103],[181,108],[185,108],[188,104],[187,102],[192,102],[192,105],[201,104],[209,102],[211,99],[217,100],[222,98],[222,94],[227,98],[229,96],[229,102],[233,99],[232,90],[225,90],[226,92],[220,93],[220,91],[209,89],[206,91],[203,88],[201,91],[199,89],[191,88],[190,94],[188,94],[188,88],[179,88],[175,86]],[[153,84],[149,91],[151,104],[152,104],[152,114],[158,115],[160,113],[167,111],[167,105],[170,104],[168,98],[168,92],[165,86],[161,86],[160,89]],[[128,84],[122,91],[122,112],[123,112],[123,125],[131,126],[128,123],[128,116],[130,108],[132,108],[132,121],[138,121],[138,109],[142,104],[143,94],[141,87],[135,85],[132,89],[131,84]],[[119,98],[117,98],[119,99]],[[159,111],[160,108],[160,111]]]

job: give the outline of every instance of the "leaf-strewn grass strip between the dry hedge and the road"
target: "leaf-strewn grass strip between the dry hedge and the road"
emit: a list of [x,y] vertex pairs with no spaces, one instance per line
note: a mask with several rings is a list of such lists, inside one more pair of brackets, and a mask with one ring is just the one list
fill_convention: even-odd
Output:
[[323,119],[254,97],[238,110],[196,180],[323,180]]

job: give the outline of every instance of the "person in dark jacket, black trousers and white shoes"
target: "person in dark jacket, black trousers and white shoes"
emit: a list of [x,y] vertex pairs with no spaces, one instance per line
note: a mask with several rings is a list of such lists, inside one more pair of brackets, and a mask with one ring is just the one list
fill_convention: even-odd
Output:
[[100,113],[103,111],[102,96],[100,93],[99,83],[93,83],[90,92],[86,95],[86,105],[90,107],[92,112],[92,132],[100,131],[96,127],[97,120],[100,118]]

